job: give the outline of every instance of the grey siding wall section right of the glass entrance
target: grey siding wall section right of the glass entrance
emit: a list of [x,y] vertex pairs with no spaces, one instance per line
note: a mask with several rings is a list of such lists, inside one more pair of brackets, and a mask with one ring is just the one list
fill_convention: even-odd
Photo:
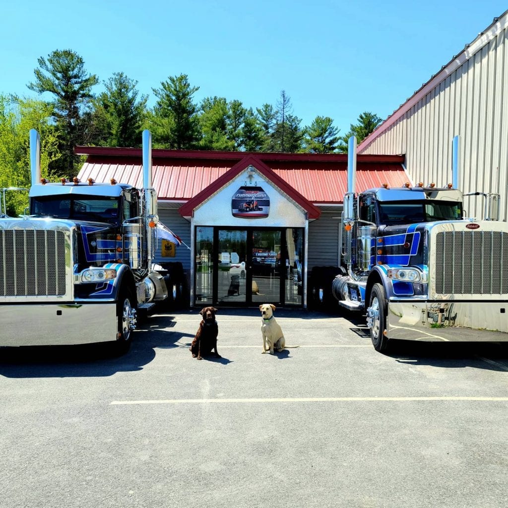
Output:
[[308,273],[314,266],[337,266],[340,254],[341,210],[323,212],[319,220],[309,223],[307,266]]

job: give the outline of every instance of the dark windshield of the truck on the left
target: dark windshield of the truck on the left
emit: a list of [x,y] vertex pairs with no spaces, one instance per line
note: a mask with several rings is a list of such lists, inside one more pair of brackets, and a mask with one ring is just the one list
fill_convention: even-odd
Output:
[[92,220],[119,224],[118,198],[92,196],[41,196],[30,203],[30,214],[36,217]]

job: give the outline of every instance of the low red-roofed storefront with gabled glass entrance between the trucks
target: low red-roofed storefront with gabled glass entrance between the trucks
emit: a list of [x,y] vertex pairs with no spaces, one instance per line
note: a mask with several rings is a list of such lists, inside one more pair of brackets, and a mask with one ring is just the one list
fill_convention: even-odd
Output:
[[[141,149],[77,147],[78,177],[140,185]],[[343,154],[152,150],[161,221],[184,242],[156,262],[186,274],[189,306],[307,306],[313,266],[339,264]],[[402,155],[359,155],[359,190],[409,181]]]

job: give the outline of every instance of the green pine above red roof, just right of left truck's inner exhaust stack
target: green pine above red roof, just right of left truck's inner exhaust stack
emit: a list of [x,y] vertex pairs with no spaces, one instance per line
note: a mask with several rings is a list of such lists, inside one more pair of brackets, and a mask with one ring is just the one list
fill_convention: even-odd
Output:
[[193,102],[199,86],[190,86],[186,74],[170,76],[161,88],[152,88],[157,103],[150,116],[154,144],[185,150],[200,139],[197,106]]

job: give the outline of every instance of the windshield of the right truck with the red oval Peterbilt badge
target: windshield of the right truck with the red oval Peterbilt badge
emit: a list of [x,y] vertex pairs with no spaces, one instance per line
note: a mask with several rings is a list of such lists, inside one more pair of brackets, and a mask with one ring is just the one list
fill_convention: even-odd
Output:
[[379,203],[380,224],[414,224],[462,219],[462,205],[456,201]]

